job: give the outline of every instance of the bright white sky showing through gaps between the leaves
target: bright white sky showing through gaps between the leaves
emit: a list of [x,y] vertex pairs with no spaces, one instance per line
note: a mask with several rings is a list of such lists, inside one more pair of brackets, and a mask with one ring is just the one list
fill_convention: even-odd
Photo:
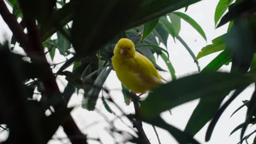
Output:
[[[184,39],[184,41],[188,44],[191,50],[195,54],[197,54],[203,46],[207,44],[211,44],[211,40],[215,37],[218,37],[227,31],[227,25],[222,26],[218,29],[214,29],[214,11],[215,7],[217,6],[218,1],[201,1],[196,4],[193,4],[188,7],[188,11],[186,14],[188,14],[191,18],[196,20],[199,25],[203,28],[205,31],[207,42],[197,33],[197,31],[191,27],[187,22],[181,21],[181,31],[180,36]],[[179,10],[181,12],[184,12],[184,9]],[[7,38],[9,41],[11,40],[11,31],[9,28],[5,25],[3,19],[0,17],[0,42],[3,43],[4,39]],[[189,53],[183,47],[178,41],[177,43],[174,43],[171,36],[169,36],[167,48],[170,53],[170,61],[172,62],[174,68],[175,68],[175,74],[179,77],[186,76],[192,73],[197,72],[197,67],[194,63],[194,60],[190,57]],[[56,51],[57,55],[55,55],[54,62],[61,62],[65,60],[63,57],[59,56],[58,51]],[[214,53],[209,56],[206,56],[204,58],[199,59],[199,65],[201,69],[203,69],[213,58],[215,58],[219,53]],[[165,66],[164,62],[161,58],[157,61],[158,65],[162,68],[167,70],[167,67]],[[71,69],[71,68],[69,68]],[[220,70],[222,71],[229,71],[229,66],[223,66]],[[169,73],[161,72],[161,75],[163,75],[166,79],[171,79]],[[60,89],[63,90],[64,86],[66,85],[65,81],[63,80],[65,77],[58,77],[58,79],[61,79],[61,81],[58,80],[58,84],[60,86]],[[63,85],[65,84],[65,85]],[[118,81],[115,72],[111,71],[109,77],[107,78],[107,81],[105,83],[105,86],[111,91],[112,97],[115,99],[115,101],[121,106],[127,113],[133,112],[133,106],[132,104],[130,106],[125,106],[123,96],[121,93],[121,83]],[[247,88],[242,94],[239,95],[237,99],[234,100],[233,103],[225,110],[223,115],[220,117],[219,122],[215,126],[215,129],[213,131],[212,138],[210,142],[207,143],[237,143],[239,142],[239,135],[240,131],[234,133],[229,137],[229,133],[239,124],[244,122],[245,119],[245,113],[246,108],[243,108],[237,112],[233,117],[230,118],[230,115],[233,113],[233,111],[241,106],[242,100],[250,99],[251,94],[253,92],[253,87],[250,86]],[[171,97],[171,95],[170,95]],[[72,111],[72,115],[77,122],[78,126],[81,128],[81,130],[85,134],[89,134],[88,137],[91,138],[97,138],[100,137],[103,141],[103,143],[114,143],[114,141],[111,139],[110,135],[106,131],[106,127],[108,127],[108,124],[106,124],[105,119],[103,119],[98,113],[95,113],[94,111],[87,111],[85,109],[82,109],[80,104],[82,101],[82,94],[79,94],[78,96],[76,94],[73,95],[69,106],[78,105],[76,109]],[[184,130],[185,126],[188,122],[188,119],[190,115],[192,114],[194,108],[196,107],[198,103],[198,100],[195,100],[193,102],[185,103],[181,106],[175,107],[172,109],[172,116],[169,114],[169,112],[163,113],[163,118],[165,121],[169,124],[174,125],[175,127],[178,127],[180,130]],[[115,108],[113,105],[110,105],[111,108],[113,108],[114,111]],[[156,107],[156,106],[153,106]],[[114,115],[109,114],[106,109],[102,106],[102,102],[99,99],[97,102],[97,109],[104,113],[109,119],[115,118]],[[119,114],[119,113],[117,113]],[[88,127],[92,123],[99,122],[91,127]],[[127,130],[127,127],[125,127],[121,122],[117,122],[116,126],[119,129]],[[156,139],[156,135],[154,133],[154,130],[151,125],[144,124],[143,127],[145,128],[145,131],[147,133],[147,136],[152,144],[158,143]],[[200,132],[198,132],[195,136],[195,139],[198,140],[201,143],[206,143],[204,141],[205,138],[205,132],[206,132],[207,126],[205,126]],[[249,127],[247,129],[246,133],[251,132],[255,129],[255,126]],[[177,143],[173,137],[162,129],[157,129],[159,137],[161,139],[161,142],[164,143]],[[249,142],[252,143],[253,138],[255,134],[251,136],[249,139]],[[2,138],[1,138],[2,137]],[[6,134],[1,134],[0,139],[3,139],[6,137]],[[66,137],[65,133],[63,133],[62,128],[59,128],[59,131],[57,134],[54,135],[54,137]],[[64,140],[68,142],[67,140]],[[49,143],[60,143],[59,140],[52,140]],[[95,141],[89,141],[89,143],[98,143]]]

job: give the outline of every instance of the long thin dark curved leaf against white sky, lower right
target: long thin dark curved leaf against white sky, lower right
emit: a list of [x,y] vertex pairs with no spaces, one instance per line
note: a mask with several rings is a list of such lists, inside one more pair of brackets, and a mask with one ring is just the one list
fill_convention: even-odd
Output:
[[[248,86],[248,85],[247,85]],[[230,105],[230,103],[241,93],[244,91],[244,89],[246,89],[246,87],[243,87],[242,89],[237,89],[232,96],[221,106],[221,108],[217,111],[217,113],[214,115],[212,121],[210,122],[208,129],[206,131],[206,135],[205,135],[205,141],[209,141],[213,132],[213,129],[215,127],[215,125],[217,124],[220,116],[222,115],[222,113],[224,112],[224,110]]]

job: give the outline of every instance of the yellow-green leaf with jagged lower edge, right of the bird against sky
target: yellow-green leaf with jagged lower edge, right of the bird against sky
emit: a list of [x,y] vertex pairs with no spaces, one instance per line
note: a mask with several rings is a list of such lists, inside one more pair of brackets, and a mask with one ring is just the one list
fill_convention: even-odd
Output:
[[201,51],[197,54],[196,60],[198,60],[206,55],[212,54],[214,52],[224,50],[226,48],[225,36],[226,36],[226,34],[221,35],[217,38],[214,38],[212,40],[212,44],[206,45],[205,47],[203,47],[201,49]]

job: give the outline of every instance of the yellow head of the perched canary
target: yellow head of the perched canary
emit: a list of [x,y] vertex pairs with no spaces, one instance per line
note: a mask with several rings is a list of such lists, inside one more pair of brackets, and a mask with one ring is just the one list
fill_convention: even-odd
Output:
[[114,55],[120,55],[124,58],[133,58],[135,55],[135,47],[133,42],[127,38],[119,39],[114,49]]

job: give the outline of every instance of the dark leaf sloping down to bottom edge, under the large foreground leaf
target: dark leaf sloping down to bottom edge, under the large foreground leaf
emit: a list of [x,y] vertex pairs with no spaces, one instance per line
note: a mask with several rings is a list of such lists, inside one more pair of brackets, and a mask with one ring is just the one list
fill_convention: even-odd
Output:
[[141,118],[143,122],[146,122],[151,125],[155,125],[161,127],[162,129],[167,130],[179,143],[191,143],[191,144],[199,144],[193,137],[191,137],[188,133],[182,132],[176,127],[167,124],[161,117],[157,116],[153,119]]

